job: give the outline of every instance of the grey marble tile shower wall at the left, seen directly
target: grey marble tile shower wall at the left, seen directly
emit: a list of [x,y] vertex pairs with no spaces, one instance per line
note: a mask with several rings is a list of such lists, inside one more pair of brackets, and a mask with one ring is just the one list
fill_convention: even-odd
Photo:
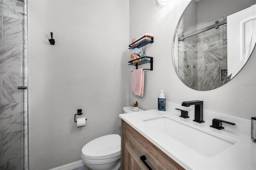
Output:
[[0,169],[28,169],[26,1],[0,0]]

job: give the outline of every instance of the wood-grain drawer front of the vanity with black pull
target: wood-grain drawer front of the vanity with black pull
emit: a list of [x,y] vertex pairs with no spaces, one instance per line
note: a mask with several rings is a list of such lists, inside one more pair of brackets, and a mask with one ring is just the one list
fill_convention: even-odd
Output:
[[140,160],[140,156],[142,155],[146,156],[146,162],[153,170],[184,169],[134,128],[130,127],[130,125],[125,123],[124,127],[125,149],[130,153],[141,169],[148,170],[145,164]]

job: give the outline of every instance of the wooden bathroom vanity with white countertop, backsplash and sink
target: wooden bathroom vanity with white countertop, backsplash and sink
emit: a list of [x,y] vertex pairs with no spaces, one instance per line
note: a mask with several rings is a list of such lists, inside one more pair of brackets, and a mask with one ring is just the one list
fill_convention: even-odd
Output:
[[[167,102],[168,103],[168,102]],[[190,118],[180,117],[186,109]],[[205,123],[193,121],[194,108],[168,103],[166,114],[149,110],[120,114],[121,167],[127,169],[256,169],[256,143],[250,120],[204,111]],[[212,119],[236,123],[211,128]]]

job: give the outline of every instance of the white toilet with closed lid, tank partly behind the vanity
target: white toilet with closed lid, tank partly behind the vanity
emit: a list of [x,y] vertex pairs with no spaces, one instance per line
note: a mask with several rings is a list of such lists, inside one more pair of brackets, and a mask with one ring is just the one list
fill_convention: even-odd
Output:
[[[132,107],[123,108],[123,113],[130,112],[133,112]],[[93,170],[118,170],[121,165],[121,137],[109,134],[88,142],[82,148],[81,158]]]

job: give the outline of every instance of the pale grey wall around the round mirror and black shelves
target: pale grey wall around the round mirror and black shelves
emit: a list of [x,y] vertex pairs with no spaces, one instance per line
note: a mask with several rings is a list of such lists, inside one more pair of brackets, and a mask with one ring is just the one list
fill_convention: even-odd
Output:
[[[154,57],[154,70],[145,73],[144,97],[132,94],[132,69],[129,71],[129,103],[138,101],[142,109],[156,109],[160,89],[168,102],[203,100],[204,109],[250,119],[256,111],[256,50],[243,69],[230,82],[210,91],[196,91],[184,85],[173,67],[172,39],[177,22],[190,0],[177,0],[166,6],[157,1],[130,1],[130,42],[146,32],[154,34],[154,43],[146,54]],[[141,8],[148,10],[140,10]],[[139,19],[138,19],[139,18]],[[138,27],[138,25],[140,27]],[[129,56],[127,56],[127,60]],[[149,67],[142,65],[140,68]]]

